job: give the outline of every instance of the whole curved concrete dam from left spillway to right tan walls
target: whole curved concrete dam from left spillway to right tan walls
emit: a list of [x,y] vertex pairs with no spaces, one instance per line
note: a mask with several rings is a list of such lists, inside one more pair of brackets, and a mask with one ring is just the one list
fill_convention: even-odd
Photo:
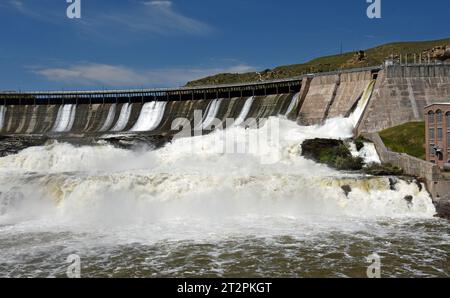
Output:
[[[374,83],[375,82],[375,83]],[[286,115],[302,125],[348,116],[369,84],[357,132],[421,120],[423,108],[450,101],[450,65],[396,65],[238,85],[198,88],[0,93],[2,135],[143,133],[170,135],[174,120],[210,129]],[[202,111],[194,123],[195,111]],[[175,125],[176,126],[176,125]]]

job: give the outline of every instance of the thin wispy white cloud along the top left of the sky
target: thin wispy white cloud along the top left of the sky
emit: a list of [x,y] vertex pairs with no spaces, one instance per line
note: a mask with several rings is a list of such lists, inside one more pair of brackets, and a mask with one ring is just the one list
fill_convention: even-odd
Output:
[[42,22],[73,25],[76,26],[74,28],[82,28],[87,33],[93,33],[106,39],[109,36],[114,39],[120,38],[119,36],[130,37],[130,33],[134,37],[138,33],[142,33],[145,37],[179,33],[207,35],[213,30],[210,25],[178,11],[176,5],[171,1],[131,2],[126,8],[105,5],[105,9],[101,11],[88,10],[82,4],[83,17],[76,22],[67,22],[66,20],[64,23],[61,23],[61,20],[66,18],[65,10],[57,10],[54,6],[37,2],[7,0],[7,2],[0,3],[0,6],[6,5],[25,16]]

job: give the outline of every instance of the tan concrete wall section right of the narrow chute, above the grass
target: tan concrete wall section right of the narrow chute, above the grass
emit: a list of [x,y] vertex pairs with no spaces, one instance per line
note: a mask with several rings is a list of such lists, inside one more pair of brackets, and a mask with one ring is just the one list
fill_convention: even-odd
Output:
[[380,72],[360,132],[423,120],[425,106],[450,102],[450,65],[393,66]]

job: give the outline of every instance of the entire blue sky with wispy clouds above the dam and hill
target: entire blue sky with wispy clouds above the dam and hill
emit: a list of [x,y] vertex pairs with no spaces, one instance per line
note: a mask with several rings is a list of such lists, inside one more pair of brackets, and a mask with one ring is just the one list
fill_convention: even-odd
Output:
[[0,90],[169,87],[392,41],[450,37],[450,1],[0,0]]

